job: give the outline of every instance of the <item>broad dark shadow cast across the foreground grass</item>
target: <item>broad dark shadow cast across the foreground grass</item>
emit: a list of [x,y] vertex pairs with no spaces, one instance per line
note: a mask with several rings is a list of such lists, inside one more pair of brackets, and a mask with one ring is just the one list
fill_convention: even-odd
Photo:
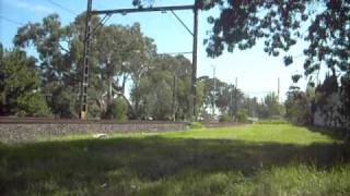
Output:
[[[154,182],[228,171],[254,176],[262,168],[303,163],[327,170],[349,162],[349,144],[298,146],[159,136],[47,142],[0,146],[0,193],[96,193],[106,184],[136,179]],[[120,188],[120,195],[127,193]]]

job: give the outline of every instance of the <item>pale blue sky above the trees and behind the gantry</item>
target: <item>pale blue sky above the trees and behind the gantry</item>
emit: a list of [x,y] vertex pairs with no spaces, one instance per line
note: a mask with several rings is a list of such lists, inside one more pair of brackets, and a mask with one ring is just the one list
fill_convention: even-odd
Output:
[[[93,10],[131,8],[132,0],[93,0]],[[194,0],[155,0],[154,5],[192,4]],[[28,22],[40,22],[50,13],[58,13],[62,25],[73,22],[77,14],[86,10],[86,0],[0,0],[0,41],[5,48],[11,48],[12,39],[19,26]],[[176,14],[192,29],[192,11],[176,11]],[[248,50],[234,50],[224,52],[221,57],[211,59],[207,57],[203,39],[211,29],[207,22],[209,15],[218,15],[218,10],[199,12],[198,37],[198,77],[213,76],[226,83],[235,84],[249,97],[262,98],[270,91],[277,93],[278,78],[280,78],[280,99],[285,99],[285,93],[292,85],[293,74],[303,74],[304,57],[301,56],[304,42],[296,44],[289,53],[294,59],[293,64],[283,65],[283,54],[269,57],[262,50],[262,42],[258,42]],[[159,53],[187,52],[192,49],[192,37],[172,15],[171,12],[130,13],[127,15],[113,15],[108,24],[132,25],[139,22],[141,30],[154,39]],[[191,54],[185,54],[191,60]],[[304,89],[305,79],[299,86]]]

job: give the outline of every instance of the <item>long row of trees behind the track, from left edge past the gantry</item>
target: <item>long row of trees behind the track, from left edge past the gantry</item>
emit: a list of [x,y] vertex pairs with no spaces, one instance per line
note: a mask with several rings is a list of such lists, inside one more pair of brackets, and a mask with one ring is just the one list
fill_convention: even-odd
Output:
[[[94,16],[92,26],[98,21]],[[79,118],[83,37],[84,14],[67,26],[51,14],[20,27],[12,49],[0,46],[0,114]],[[94,30],[91,42],[89,118],[189,120],[188,59],[158,54],[155,44],[137,23],[103,25]],[[230,121],[238,113],[243,120],[281,114],[276,95],[258,103],[235,86],[215,79],[214,87],[213,78],[198,78],[200,119],[211,118],[213,107]]]

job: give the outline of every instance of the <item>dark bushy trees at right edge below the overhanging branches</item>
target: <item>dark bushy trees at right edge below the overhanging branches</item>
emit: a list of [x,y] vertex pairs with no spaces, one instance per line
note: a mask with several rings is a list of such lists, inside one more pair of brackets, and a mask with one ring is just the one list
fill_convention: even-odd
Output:
[[317,85],[305,90],[292,86],[285,100],[285,117],[293,123],[349,130],[350,79],[328,73]]

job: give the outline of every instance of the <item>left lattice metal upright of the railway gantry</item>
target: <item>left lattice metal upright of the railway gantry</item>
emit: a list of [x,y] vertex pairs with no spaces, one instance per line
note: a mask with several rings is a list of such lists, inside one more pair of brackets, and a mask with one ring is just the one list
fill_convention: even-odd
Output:
[[80,119],[88,118],[88,86],[89,86],[89,54],[90,54],[90,35],[91,35],[91,10],[92,0],[88,0],[85,35],[84,35],[84,64],[82,70],[82,85],[80,93]]

